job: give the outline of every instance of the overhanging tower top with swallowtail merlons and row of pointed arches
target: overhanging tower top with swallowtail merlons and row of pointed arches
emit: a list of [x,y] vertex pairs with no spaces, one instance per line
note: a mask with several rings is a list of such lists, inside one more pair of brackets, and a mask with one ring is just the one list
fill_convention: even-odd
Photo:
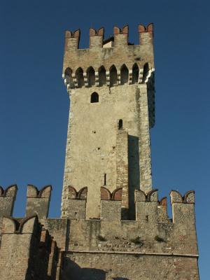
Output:
[[104,27],[90,28],[90,48],[79,49],[80,29],[65,33],[62,76],[71,88],[147,83],[154,71],[153,24],[139,25],[139,45],[128,43],[129,27],[114,27],[104,40]]

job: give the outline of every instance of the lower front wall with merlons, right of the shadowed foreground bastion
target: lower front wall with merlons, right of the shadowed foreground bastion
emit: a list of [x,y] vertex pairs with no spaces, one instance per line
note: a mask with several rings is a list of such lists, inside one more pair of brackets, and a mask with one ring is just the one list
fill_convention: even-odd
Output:
[[173,221],[162,223],[157,194],[136,194],[137,221],[120,221],[114,201],[102,201],[101,221],[71,221],[63,279],[198,280],[194,195],[172,191]]

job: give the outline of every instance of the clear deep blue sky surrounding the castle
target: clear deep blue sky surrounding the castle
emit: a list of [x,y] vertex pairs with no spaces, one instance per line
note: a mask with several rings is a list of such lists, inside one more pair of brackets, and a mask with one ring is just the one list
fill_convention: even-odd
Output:
[[[196,192],[200,276],[209,279],[209,1],[5,1],[0,3],[0,185],[18,184],[15,216],[25,215],[27,183],[52,184],[59,216],[69,98],[62,80],[64,30],[154,22],[156,125],[153,188]],[[168,200],[169,203],[169,200]],[[170,208],[170,206],[169,206]],[[169,211],[170,212],[170,211]]]

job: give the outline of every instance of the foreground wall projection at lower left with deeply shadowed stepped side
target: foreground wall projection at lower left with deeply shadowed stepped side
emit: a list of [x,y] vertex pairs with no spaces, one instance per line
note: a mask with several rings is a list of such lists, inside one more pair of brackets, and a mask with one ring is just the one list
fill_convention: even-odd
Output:
[[61,258],[56,242],[38,223],[37,216],[24,219],[3,217],[0,279],[56,280]]

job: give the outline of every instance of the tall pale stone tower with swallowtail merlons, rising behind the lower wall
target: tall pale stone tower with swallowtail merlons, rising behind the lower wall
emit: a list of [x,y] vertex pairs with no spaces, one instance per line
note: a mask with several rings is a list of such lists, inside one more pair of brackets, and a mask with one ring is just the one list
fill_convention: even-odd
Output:
[[[152,189],[150,128],[154,115],[153,24],[139,25],[139,45],[129,28],[90,28],[90,48],[79,49],[80,30],[66,31],[63,78],[70,97],[62,217],[69,188],[87,187],[86,218],[99,218],[101,198],[122,196],[134,217],[134,190]],[[121,193],[120,193],[121,192]]]

